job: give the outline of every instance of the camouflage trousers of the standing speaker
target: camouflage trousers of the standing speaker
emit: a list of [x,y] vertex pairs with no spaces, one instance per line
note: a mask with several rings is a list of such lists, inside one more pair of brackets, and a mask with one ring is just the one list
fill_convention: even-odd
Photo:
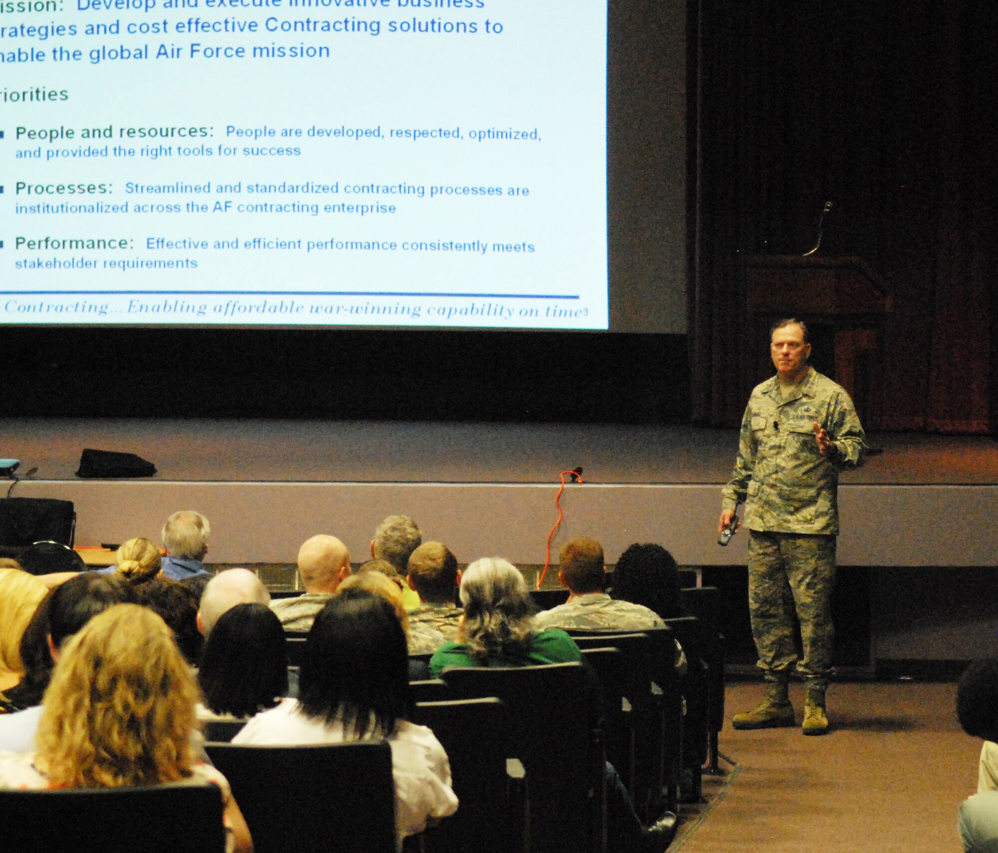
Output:
[[[831,673],[831,591],[835,537],[749,530],[749,612],[758,666],[783,680],[796,663],[808,683],[824,687]],[[803,656],[793,644],[800,622]]]

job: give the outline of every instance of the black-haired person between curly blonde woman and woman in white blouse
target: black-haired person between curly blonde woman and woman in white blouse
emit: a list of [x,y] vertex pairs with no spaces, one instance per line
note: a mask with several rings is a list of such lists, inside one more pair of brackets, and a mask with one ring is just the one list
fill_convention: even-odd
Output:
[[269,607],[237,604],[219,618],[198,670],[202,719],[251,717],[287,695],[284,631]]

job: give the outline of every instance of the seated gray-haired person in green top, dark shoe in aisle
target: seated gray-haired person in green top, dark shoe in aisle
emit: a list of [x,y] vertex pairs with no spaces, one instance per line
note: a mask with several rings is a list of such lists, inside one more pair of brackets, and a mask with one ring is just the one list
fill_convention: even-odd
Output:
[[[464,620],[457,642],[447,643],[430,659],[434,678],[448,666],[531,666],[582,659],[579,647],[565,631],[538,631],[534,627],[527,583],[519,570],[504,559],[484,557],[471,563],[461,577],[461,602]],[[606,780],[609,850],[665,850],[676,834],[676,815],[666,812],[646,829],[635,813],[627,788],[610,764]]]

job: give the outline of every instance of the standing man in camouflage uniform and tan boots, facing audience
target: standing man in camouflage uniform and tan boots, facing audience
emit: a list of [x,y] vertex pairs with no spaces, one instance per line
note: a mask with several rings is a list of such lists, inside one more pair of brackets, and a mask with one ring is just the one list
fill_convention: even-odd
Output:
[[[762,703],[736,714],[732,723],[792,726],[787,682],[796,662],[805,684],[803,733],[824,734],[838,474],[862,463],[863,427],[845,391],[807,364],[811,348],[802,323],[775,324],[769,349],[776,376],[749,398],[718,525],[719,531],[729,526],[745,501],[752,637],[767,681]],[[800,660],[793,646],[794,611],[803,640]]]

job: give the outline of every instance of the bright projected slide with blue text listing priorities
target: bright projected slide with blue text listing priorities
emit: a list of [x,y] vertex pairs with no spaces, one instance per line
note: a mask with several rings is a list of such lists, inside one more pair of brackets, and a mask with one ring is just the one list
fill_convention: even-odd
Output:
[[0,323],[606,329],[604,2],[0,0]]

